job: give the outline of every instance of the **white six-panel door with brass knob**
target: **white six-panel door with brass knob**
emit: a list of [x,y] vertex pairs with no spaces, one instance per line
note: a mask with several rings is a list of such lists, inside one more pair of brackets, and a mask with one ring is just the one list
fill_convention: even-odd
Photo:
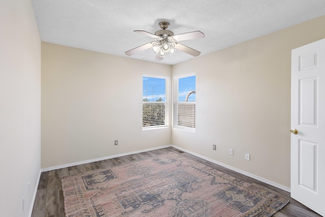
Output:
[[325,216],[325,39],[291,52],[291,129],[291,197]]

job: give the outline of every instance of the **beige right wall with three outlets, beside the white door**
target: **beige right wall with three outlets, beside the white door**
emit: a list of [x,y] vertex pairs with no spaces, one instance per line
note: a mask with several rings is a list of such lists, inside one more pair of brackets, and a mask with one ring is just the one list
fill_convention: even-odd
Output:
[[291,49],[325,38],[324,24],[325,16],[173,66],[173,76],[197,74],[197,129],[173,129],[172,144],[289,188]]

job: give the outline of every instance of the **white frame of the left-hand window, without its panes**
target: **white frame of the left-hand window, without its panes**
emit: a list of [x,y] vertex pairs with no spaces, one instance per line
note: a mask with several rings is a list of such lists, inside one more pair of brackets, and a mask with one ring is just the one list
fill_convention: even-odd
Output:
[[[168,128],[170,127],[170,78],[165,76],[159,76],[159,75],[148,75],[144,74],[142,76],[142,88],[143,88],[143,78],[158,78],[158,79],[165,79],[165,102],[159,102],[159,101],[144,101],[144,91],[142,89],[142,130],[152,130],[152,129],[161,129],[161,128]],[[164,125],[152,125],[152,126],[143,126],[144,125],[144,105],[145,104],[162,104],[165,105],[165,124]]]

